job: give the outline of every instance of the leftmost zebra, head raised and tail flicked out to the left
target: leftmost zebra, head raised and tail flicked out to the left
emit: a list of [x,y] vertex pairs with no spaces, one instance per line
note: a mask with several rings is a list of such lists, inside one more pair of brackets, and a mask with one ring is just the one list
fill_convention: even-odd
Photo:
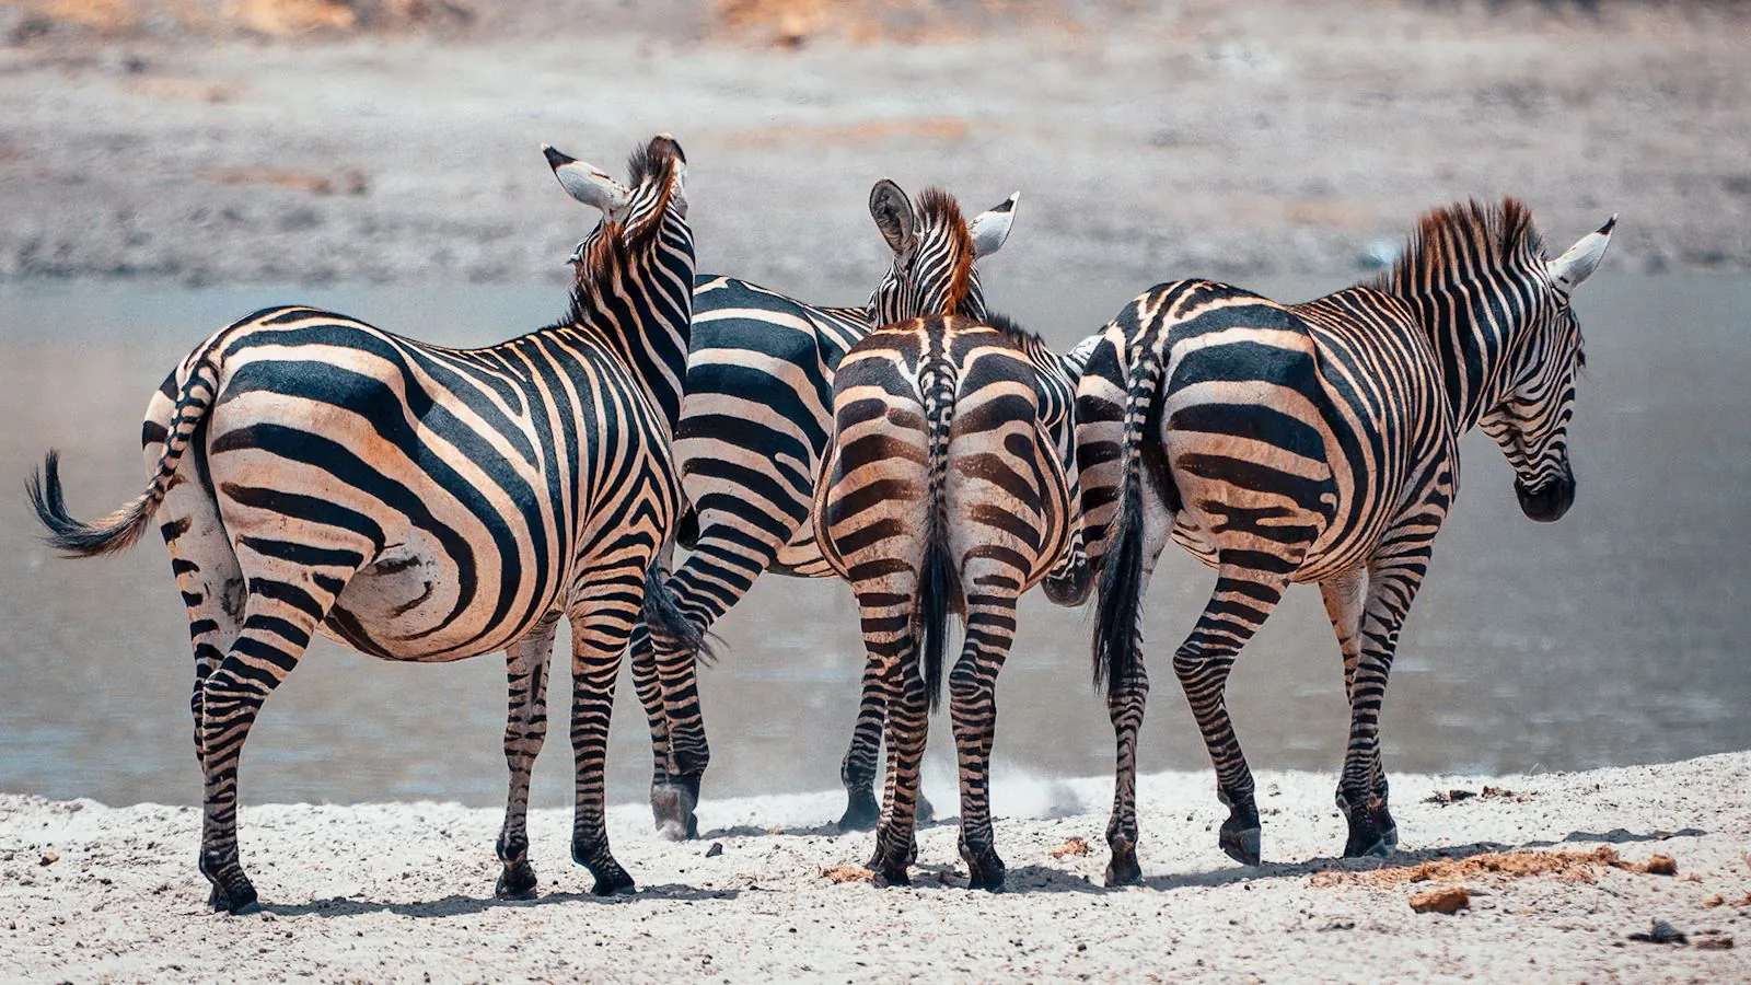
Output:
[[142,496],[86,524],[67,512],[54,450],[32,475],[49,543],[70,556],[123,550],[159,519],[194,647],[200,869],[215,910],[259,910],[238,857],[238,759],[313,631],[392,661],[504,650],[496,894],[532,897],[529,773],[560,617],[573,859],[594,892],[632,889],[608,845],[602,762],[641,606],[658,631],[685,631],[651,568],[681,505],[669,436],[692,315],[686,156],[655,137],[622,186],[543,152],[566,191],[602,212],[560,322],[447,349],[334,312],[264,308],[212,335],[152,396]]

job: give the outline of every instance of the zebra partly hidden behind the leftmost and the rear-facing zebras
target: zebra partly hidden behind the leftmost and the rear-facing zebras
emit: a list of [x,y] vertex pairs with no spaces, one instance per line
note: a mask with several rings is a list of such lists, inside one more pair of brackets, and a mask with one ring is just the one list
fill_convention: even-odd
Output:
[[[762,571],[832,577],[809,522],[814,477],[832,431],[833,368],[879,324],[921,314],[986,314],[975,259],[1009,238],[1021,193],[961,217],[954,198],[926,189],[914,203],[893,181],[870,189],[870,216],[893,252],[886,277],[863,307],[816,307],[723,275],[700,275],[693,289],[693,338],[676,456],[692,510],[683,517],[686,563],[669,589],[706,631],[753,587]],[[679,634],[672,636],[681,640]],[[653,645],[632,636],[634,685],[651,729],[651,811],[669,838],[693,838],[693,808],[709,761],[695,663],[697,647]],[[874,715],[874,717],[872,717]],[[881,706],[865,701],[840,776],[846,827],[874,817],[876,743]],[[860,813],[858,804],[868,810]]]

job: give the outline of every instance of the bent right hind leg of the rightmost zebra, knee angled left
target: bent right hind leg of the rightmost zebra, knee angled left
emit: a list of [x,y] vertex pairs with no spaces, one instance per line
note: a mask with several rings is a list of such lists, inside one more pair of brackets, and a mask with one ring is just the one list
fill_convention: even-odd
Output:
[[1247,757],[1240,750],[1234,724],[1227,715],[1224,691],[1234,657],[1282,601],[1294,566],[1255,552],[1245,556],[1254,563],[1269,561],[1269,568],[1236,564],[1233,556],[1224,552],[1215,591],[1198,624],[1192,626],[1191,636],[1173,654],[1173,673],[1180,678],[1180,689],[1185,691],[1210,762],[1215,766],[1217,797],[1229,808],[1219,845],[1236,862],[1257,866],[1259,804],[1254,799],[1252,769],[1247,768]]

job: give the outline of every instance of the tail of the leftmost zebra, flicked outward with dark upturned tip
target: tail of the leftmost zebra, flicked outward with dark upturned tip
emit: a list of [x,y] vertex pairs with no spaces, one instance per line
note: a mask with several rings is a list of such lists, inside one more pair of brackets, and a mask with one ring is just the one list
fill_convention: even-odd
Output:
[[49,449],[42,456],[42,471],[32,470],[25,482],[25,494],[30,496],[37,519],[49,528],[49,536],[44,538],[49,547],[68,557],[96,557],[133,547],[140,531],[158,514],[158,505],[165,501],[170,480],[182,463],[182,452],[187,450],[196,428],[212,408],[214,394],[219,391],[219,365],[214,352],[224,337],[226,331],[221,331],[196,354],[194,368],[182,384],[182,393],[177,394],[177,407],[165,433],[165,450],[158,456],[152,480],[145,492],[130,500],[123,508],[93,524],[75,519],[67,512],[67,500],[61,494],[61,454]]

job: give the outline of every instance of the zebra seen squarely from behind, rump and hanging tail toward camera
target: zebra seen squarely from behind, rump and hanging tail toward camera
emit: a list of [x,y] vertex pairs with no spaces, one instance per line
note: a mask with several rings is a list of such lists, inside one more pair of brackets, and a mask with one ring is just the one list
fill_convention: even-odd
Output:
[[874,331],[833,377],[814,529],[858,599],[865,703],[877,724],[886,710],[886,811],[868,868],[890,885],[907,882],[916,855],[918,769],[953,608],[967,626],[949,671],[960,854],[974,889],[1003,887],[988,780],[1016,599],[1047,580],[1052,601],[1075,605],[1093,580],[1075,515],[1084,354],[1059,358],[996,314],[932,315]]

